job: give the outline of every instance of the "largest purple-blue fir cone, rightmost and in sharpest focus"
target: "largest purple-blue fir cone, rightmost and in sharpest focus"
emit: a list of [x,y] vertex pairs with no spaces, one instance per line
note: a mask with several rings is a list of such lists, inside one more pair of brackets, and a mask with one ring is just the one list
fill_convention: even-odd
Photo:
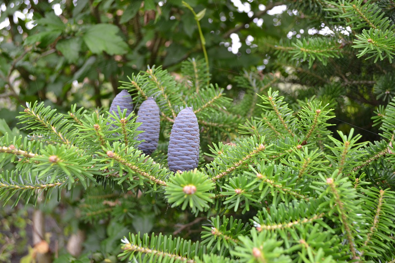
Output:
[[167,163],[171,171],[188,171],[198,167],[199,124],[192,107],[179,112],[171,129]]

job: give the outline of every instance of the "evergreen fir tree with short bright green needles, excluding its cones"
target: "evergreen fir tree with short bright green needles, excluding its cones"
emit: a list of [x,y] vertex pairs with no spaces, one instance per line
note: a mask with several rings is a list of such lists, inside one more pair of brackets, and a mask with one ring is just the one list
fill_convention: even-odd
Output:
[[[73,201],[81,221],[95,229],[107,222],[121,250],[107,250],[108,240],[97,249],[101,255],[81,256],[87,262],[113,255],[128,262],[394,262],[395,88],[386,75],[395,47],[391,2],[290,6],[305,11],[309,23],[325,21],[333,34],[272,45],[266,39],[265,52],[275,51],[282,71],[246,72],[238,79],[246,89],[240,100],[211,84],[207,60],[183,62],[180,81],[148,66],[121,82],[136,107],[152,97],[160,108],[159,141],[150,155],[139,150],[144,131],[127,109],[73,105],[65,114],[26,103],[18,118],[28,135],[3,128],[0,137],[0,200],[15,206],[81,197]],[[350,26],[349,35],[339,26]],[[343,78],[338,67],[350,59],[358,67]],[[322,76],[322,69],[333,83],[305,77]],[[285,98],[278,88],[285,77],[302,84],[298,96],[316,94]],[[334,134],[339,98],[369,94],[368,86],[353,87],[372,79],[378,99],[388,102],[373,117],[380,140],[363,142],[354,129]],[[174,173],[167,145],[185,107],[199,124],[198,168]],[[199,237],[181,238],[160,222],[177,212],[186,215],[181,229],[202,225]],[[146,233],[149,216],[158,232]],[[136,232],[115,222],[132,222]]]

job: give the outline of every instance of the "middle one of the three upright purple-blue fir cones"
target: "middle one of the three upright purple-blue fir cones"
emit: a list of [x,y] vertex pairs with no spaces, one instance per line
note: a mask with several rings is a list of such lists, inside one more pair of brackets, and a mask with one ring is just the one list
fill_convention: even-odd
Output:
[[141,103],[136,122],[142,122],[137,128],[138,131],[144,131],[137,137],[137,141],[142,141],[137,148],[145,154],[151,154],[158,146],[160,116],[159,107],[154,98],[150,97]]

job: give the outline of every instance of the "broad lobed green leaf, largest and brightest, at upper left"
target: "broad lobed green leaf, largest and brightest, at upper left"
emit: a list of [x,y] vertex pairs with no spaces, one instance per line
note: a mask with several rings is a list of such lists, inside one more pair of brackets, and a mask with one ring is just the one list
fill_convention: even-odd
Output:
[[89,26],[83,39],[94,54],[103,51],[110,55],[125,54],[129,51],[128,44],[117,35],[119,28],[113,24],[95,24]]

